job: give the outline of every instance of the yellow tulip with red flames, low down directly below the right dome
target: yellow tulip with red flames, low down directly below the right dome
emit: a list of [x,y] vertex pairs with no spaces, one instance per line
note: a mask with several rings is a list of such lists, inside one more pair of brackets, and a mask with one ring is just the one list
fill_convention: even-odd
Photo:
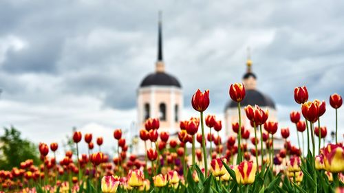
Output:
[[251,184],[255,181],[257,163],[252,161],[243,161],[234,167],[235,177],[239,184]]

